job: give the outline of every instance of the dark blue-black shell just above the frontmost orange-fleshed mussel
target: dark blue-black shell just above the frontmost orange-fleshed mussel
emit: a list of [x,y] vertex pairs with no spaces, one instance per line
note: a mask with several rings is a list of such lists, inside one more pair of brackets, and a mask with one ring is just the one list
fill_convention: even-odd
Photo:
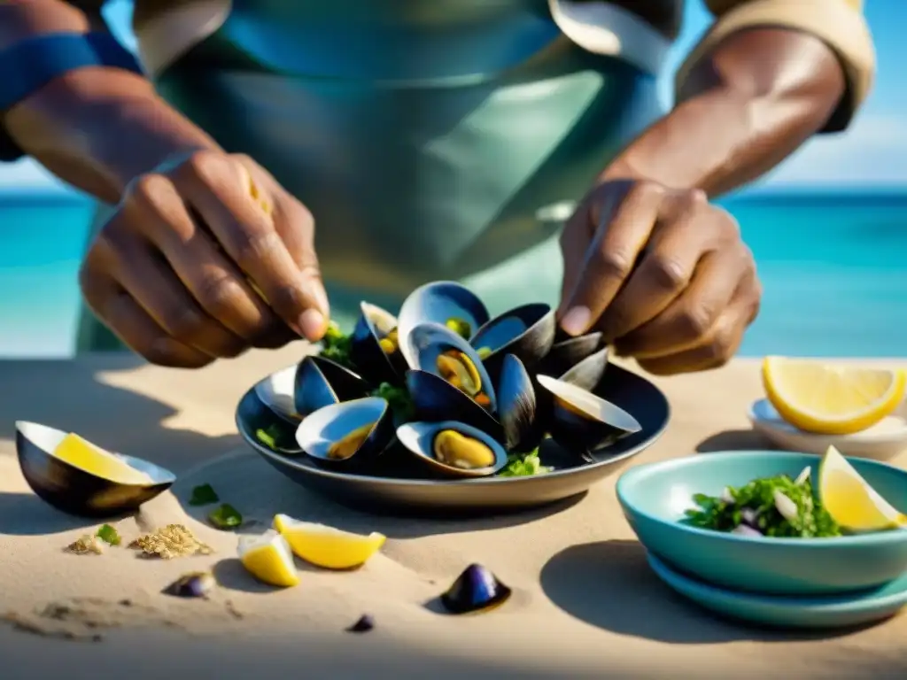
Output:
[[501,423],[453,384],[427,371],[406,372],[406,391],[413,400],[415,419],[430,423],[457,421],[500,439]]

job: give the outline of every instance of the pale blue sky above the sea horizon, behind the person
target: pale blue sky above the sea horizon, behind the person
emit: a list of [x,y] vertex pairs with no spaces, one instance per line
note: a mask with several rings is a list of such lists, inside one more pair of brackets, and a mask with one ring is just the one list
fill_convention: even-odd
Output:
[[[879,63],[873,93],[850,130],[809,142],[776,169],[766,184],[907,185],[907,88],[899,83],[907,64],[907,40],[903,34],[907,0],[866,0],[865,5]],[[106,14],[114,31],[132,45],[127,27],[130,7],[127,0],[116,0]],[[709,21],[701,0],[688,0],[684,32],[666,76],[673,73]],[[669,77],[665,77],[662,86],[668,101]],[[30,160],[0,164],[0,190],[51,188],[59,188],[59,183]]]

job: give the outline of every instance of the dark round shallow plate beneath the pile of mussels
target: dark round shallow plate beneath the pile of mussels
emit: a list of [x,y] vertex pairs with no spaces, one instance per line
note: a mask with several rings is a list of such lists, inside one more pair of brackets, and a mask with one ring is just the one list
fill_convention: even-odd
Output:
[[[278,373],[294,372],[289,366]],[[275,374],[277,375],[277,374]],[[268,376],[266,380],[274,380]],[[351,474],[316,466],[303,452],[283,454],[258,441],[256,432],[278,432],[278,445],[296,447],[295,427],[272,412],[258,398],[255,386],[239,401],[236,423],[243,440],[278,471],[310,491],[344,505],[378,512],[421,514],[444,512],[489,512],[523,510],[564,500],[589,490],[590,486],[619,471],[630,458],[645,451],[668,426],[670,409],[665,395],[642,376],[609,364],[595,393],[632,414],[642,430],[593,454],[583,461],[580,454],[551,447],[541,455],[555,471],[532,477],[483,477],[468,480],[425,479],[424,468],[395,466],[398,457],[385,454],[388,465],[381,474]],[[546,460],[547,458],[547,460]]]

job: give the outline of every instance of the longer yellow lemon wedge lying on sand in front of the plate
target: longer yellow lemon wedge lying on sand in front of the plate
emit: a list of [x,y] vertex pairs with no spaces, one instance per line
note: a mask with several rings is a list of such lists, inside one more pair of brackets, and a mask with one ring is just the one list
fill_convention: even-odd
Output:
[[324,524],[274,516],[274,529],[287,539],[300,559],[327,569],[351,569],[366,563],[385,544],[384,534],[373,531],[367,536],[334,529]]

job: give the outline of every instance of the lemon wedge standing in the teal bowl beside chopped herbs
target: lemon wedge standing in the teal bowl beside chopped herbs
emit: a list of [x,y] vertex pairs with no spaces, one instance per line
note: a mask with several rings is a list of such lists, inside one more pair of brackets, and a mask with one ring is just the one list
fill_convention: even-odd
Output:
[[882,531],[902,527],[907,521],[834,446],[828,447],[819,463],[819,499],[843,529]]

